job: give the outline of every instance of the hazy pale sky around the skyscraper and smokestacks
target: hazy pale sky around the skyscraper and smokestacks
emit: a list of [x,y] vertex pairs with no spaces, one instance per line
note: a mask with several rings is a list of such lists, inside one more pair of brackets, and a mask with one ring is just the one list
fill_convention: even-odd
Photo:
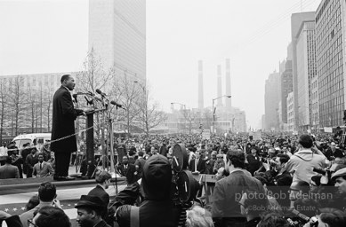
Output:
[[[205,106],[217,97],[217,65],[230,59],[232,106],[257,127],[264,83],[286,59],[294,12],[320,0],[146,0],[147,78],[166,111],[197,107],[197,61]],[[88,50],[88,1],[0,0],[0,75],[78,71]],[[222,86],[225,94],[225,84]]]

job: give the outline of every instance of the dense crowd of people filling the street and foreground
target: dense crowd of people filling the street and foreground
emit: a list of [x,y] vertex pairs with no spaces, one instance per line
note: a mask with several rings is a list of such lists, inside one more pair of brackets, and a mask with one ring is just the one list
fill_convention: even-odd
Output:
[[[264,133],[257,140],[246,134],[210,139],[200,135],[118,139],[115,168],[126,178],[125,190],[109,195],[105,190],[112,184],[111,176],[98,170],[97,186],[81,195],[76,205],[76,221],[82,227],[130,226],[132,222],[135,226],[180,226],[183,214],[186,226],[346,226],[342,142],[341,135]],[[197,202],[205,200],[202,187],[199,200],[191,201],[189,207],[172,199],[173,146],[177,144],[186,148],[189,171],[215,176],[215,184],[208,184],[212,188],[209,203]],[[32,176],[44,177],[40,172],[44,168],[48,169],[46,176],[53,174],[53,155],[49,154],[30,151],[25,160],[36,157],[36,163],[30,162]],[[16,168],[14,177],[20,177],[13,162],[18,162],[17,157],[17,152],[8,156],[0,167],[0,178],[2,168]],[[28,176],[28,163],[26,166],[23,173]],[[55,213],[60,215],[57,226],[69,226],[55,195],[54,184],[41,184],[38,204],[18,217],[18,226],[31,222],[43,227],[44,222],[52,222]],[[16,218],[4,212],[0,217],[8,222]]]

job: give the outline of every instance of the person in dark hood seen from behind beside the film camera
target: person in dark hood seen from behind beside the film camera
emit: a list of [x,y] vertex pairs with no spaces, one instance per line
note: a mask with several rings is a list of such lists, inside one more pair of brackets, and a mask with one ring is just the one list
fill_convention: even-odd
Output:
[[117,208],[115,217],[120,227],[134,223],[141,227],[175,227],[180,210],[171,199],[172,168],[169,160],[161,154],[153,155],[143,167],[141,184],[144,200],[141,207],[123,205]]

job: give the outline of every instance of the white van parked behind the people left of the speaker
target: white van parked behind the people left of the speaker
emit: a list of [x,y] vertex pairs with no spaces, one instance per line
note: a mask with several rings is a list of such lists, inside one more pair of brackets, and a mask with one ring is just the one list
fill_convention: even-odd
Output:
[[30,146],[35,145],[37,151],[40,151],[45,143],[51,141],[51,137],[51,133],[31,133],[14,137],[12,142],[14,142],[20,150],[22,150],[23,145],[29,143]]

